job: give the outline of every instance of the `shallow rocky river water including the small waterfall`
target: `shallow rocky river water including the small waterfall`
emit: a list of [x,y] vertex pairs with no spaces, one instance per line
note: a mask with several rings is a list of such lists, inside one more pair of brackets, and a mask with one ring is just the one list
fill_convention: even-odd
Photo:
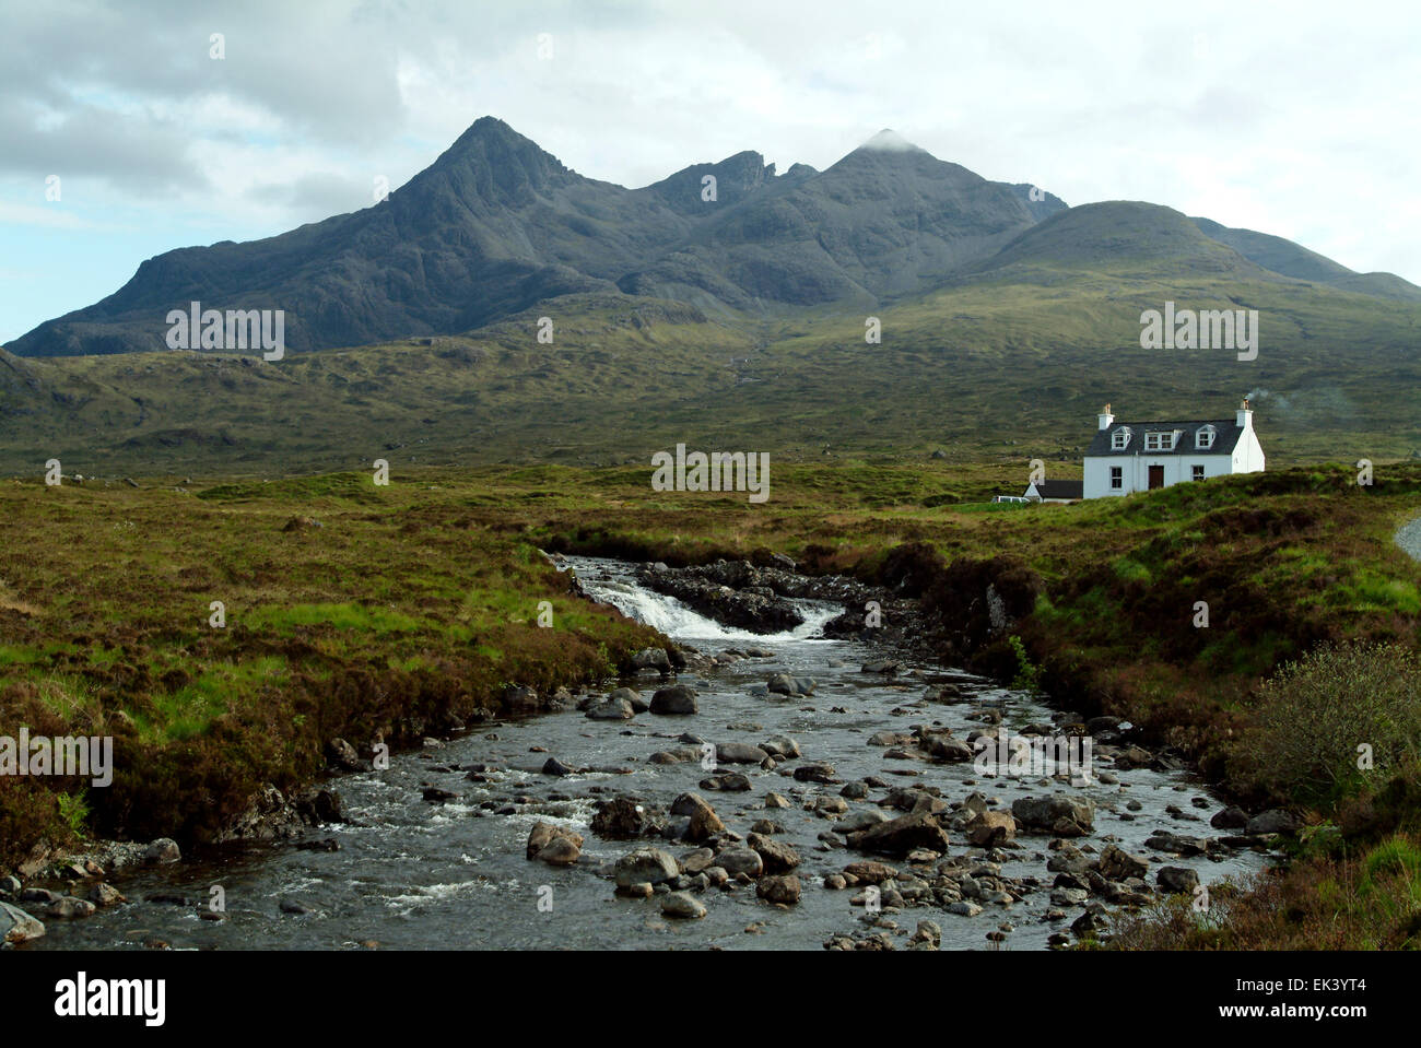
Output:
[[[982,790],[1006,805],[1016,797],[1064,788],[1040,777],[982,780],[971,763],[888,760],[887,747],[867,744],[875,733],[908,731],[915,723],[941,723],[965,737],[980,727],[969,716],[985,707],[1000,709],[1003,723],[1016,727],[1049,721],[1050,711],[1023,693],[929,663],[908,660],[897,677],[864,673],[861,665],[882,657],[882,652],[863,642],[816,639],[823,622],[841,611],[837,606],[806,604],[804,626],[759,636],[722,628],[672,598],[638,588],[627,565],[591,558],[573,558],[571,564],[590,592],[706,655],[732,648],[763,649],[770,655],[681,675],[699,693],[698,714],[641,713],[632,720],[601,721],[568,709],[479,726],[442,747],[398,754],[387,771],[345,775],[333,782],[351,821],[313,831],[310,836],[334,838],[338,851],[301,851],[290,842],[229,848],[178,866],[115,875],[111,882],[128,896],[128,905],[87,919],[47,920],[47,936],[26,949],[139,947],[149,940],[162,940],[173,949],[273,950],[362,944],[514,950],[820,949],[833,934],[863,929],[864,910],[850,902],[855,892],[827,890],[823,878],[871,856],[823,844],[818,835],[831,822],[804,805],[814,798],[838,797],[841,785],[797,782],[786,773],[803,761],[790,761],[774,771],[735,765],[733,770],[750,777],[753,788],[709,792],[698,788],[708,775],[699,763],[652,764],[649,754],[682,746],[676,740],[685,731],[713,743],[791,736],[804,761],[833,764],[844,782],[877,775],[892,785],[934,785],[951,802]],[[814,693],[799,699],[752,693],[780,670],[813,679]],[[969,700],[952,706],[926,703],[925,689],[942,682],[962,686]],[[648,673],[634,683],[649,697],[658,679]],[[549,755],[568,765],[605,770],[556,778],[540,771]],[[462,771],[436,770],[469,764],[489,765],[487,781],[472,782]],[[617,770],[628,774],[615,774]],[[898,774],[904,771],[914,774]],[[1160,826],[1187,835],[1214,835],[1208,817],[1222,805],[1185,773],[1134,770],[1118,773],[1118,784],[1093,781],[1069,790],[1090,795],[1097,805],[1094,832],[1079,844],[1098,851],[1113,839],[1125,851],[1148,855],[1151,883],[1160,865],[1191,866],[1204,883],[1262,868],[1265,856],[1249,851],[1223,861],[1145,851],[1145,838]],[[460,797],[429,804],[422,799],[423,785],[443,787]],[[796,870],[804,882],[801,902],[780,909],[757,900],[752,886],[733,892],[712,888],[698,896],[708,907],[703,919],[674,920],[662,916],[658,899],[614,896],[612,882],[594,870],[642,842],[593,835],[588,822],[595,802],[632,792],[665,809],[684,791],[701,792],[737,834],[746,835],[760,818],[780,824],[783,834],[777,839],[791,844],[803,858]],[[763,798],[769,791],[784,794],[794,805],[766,811]],[[870,799],[850,801],[850,811],[871,808],[881,795],[875,790]],[[1195,807],[1195,797],[1206,798],[1208,805]],[[1127,801],[1138,802],[1138,809],[1127,811]],[[1169,805],[1177,807],[1177,814],[1167,811]],[[513,814],[497,814],[509,808]],[[1185,814],[1181,817],[1179,811]],[[524,858],[529,829],[539,819],[583,834],[585,844],[577,865],[553,868]],[[1005,852],[1003,873],[1036,876],[1042,883],[1020,902],[988,905],[979,916],[949,915],[938,906],[914,906],[882,916],[895,920],[904,933],[918,920],[935,920],[942,927],[942,949],[989,949],[995,944],[986,936],[998,930],[1005,930],[1006,949],[1043,949],[1047,936],[1066,930],[1081,909],[1073,907],[1064,920],[1044,919],[1053,909],[1049,895],[1054,875],[1046,872],[1049,838],[1017,839],[1022,848]],[[692,846],[644,844],[672,855]],[[962,835],[953,832],[951,853],[965,849]],[[220,920],[212,919],[207,906],[213,886],[220,886],[225,896]],[[146,902],[153,895],[183,896],[189,902]],[[284,912],[283,902],[300,903],[307,912]],[[898,943],[904,941],[899,936]]]

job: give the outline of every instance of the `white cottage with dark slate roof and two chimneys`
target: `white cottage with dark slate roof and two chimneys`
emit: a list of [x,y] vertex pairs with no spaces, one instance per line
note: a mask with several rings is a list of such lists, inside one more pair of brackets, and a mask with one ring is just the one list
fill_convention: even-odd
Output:
[[1107,403],[1098,422],[1086,449],[1086,498],[1263,471],[1263,447],[1248,400],[1232,419],[1206,422],[1115,422]]

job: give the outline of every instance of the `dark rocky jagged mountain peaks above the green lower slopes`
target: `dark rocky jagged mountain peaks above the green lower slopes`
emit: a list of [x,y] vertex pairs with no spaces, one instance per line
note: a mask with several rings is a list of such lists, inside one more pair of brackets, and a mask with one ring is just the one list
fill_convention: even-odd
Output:
[[[713,176],[715,199],[703,199]],[[162,349],[169,310],[284,310],[294,351],[465,331],[564,294],[712,311],[871,305],[928,287],[1033,224],[1029,202],[884,132],[826,172],[755,152],[642,189],[588,179],[493,118],[384,202],[266,240],[149,258],[108,298],[6,346]]]

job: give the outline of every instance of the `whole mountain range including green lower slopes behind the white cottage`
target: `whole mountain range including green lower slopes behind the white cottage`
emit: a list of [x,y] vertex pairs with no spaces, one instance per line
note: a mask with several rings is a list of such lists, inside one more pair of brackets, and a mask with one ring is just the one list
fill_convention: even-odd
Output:
[[[169,251],[0,349],[0,471],[644,466],[685,442],[1070,476],[1104,402],[1208,417],[1242,395],[1270,464],[1384,462],[1421,456],[1418,293],[1158,204],[1066,207],[891,132],[826,170],[742,152],[624,189],[483,119],[378,206]],[[320,352],[166,349],[192,298],[284,308]],[[1256,359],[1141,348],[1167,301],[1256,310]]]

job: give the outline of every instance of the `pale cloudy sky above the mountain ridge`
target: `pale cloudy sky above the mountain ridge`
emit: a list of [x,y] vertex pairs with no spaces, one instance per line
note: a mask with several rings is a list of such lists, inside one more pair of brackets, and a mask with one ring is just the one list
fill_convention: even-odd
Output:
[[1412,3],[0,0],[0,342],[367,207],[485,115],[630,187],[892,128],[1421,283],[1418,95]]

